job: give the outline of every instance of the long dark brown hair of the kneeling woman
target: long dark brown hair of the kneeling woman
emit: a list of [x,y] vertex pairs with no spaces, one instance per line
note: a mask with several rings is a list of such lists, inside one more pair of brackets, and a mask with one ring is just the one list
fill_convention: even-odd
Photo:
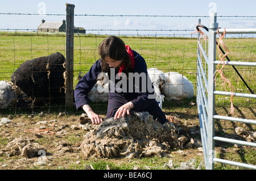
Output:
[[116,36],[107,37],[98,46],[98,53],[101,56],[101,68],[103,72],[108,72],[110,67],[105,61],[105,57],[109,56],[113,60],[123,60],[125,68],[131,65],[129,54],[126,51],[123,40]]

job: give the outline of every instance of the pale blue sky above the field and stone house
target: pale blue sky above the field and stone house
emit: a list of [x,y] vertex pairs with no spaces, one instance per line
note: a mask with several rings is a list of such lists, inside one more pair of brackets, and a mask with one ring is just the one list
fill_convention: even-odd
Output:
[[[0,13],[40,15],[0,14],[0,29],[36,29],[42,19],[48,22],[60,22],[65,19],[65,15],[49,16],[43,14],[66,14],[66,3],[75,5],[76,15],[209,16],[210,12],[217,12],[217,16],[254,16],[253,18],[218,17],[217,22],[221,28],[256,28],[255,0],[1,0]],[[208,26],[209,18],[200,17],[200,19],[201,23]],[[199,17],[75,16],[74,21],[76,27],[83,27],[86,30],[195,30]],[[173,32],[175,31],[159,33]],[[90,33],[90,31],[86,31],[86,33]],[[175,33],[182,34],[187,32],[176,31]]]

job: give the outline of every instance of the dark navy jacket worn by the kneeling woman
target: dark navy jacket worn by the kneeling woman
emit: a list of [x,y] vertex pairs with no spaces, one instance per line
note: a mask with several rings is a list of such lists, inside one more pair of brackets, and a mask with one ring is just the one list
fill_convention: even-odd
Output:
[[[133,50],[133,54],[134,54],[135,64],[134,64],[134,68],[131,69],[131,71],[133,71],[133,73],[146,74],[146,80],[140,79],[139,85],[136,85],[135,80],[133,81],[134,90],[135,90],[135,87],[137,86],[136,88],[137,91],[134,91],[134,92],[129,92],[129,91],[110,92],[109,91],[109,97],[112,96],[113,98],[114,96],[118,96],[118,94],[122,94],[123,96],[125,96],[127,101],[131,101],[133,103],[134,105],[133,110],[139,112],[139,111],[143,111],[148,106],[151,106],[151,104],[154,103],[156,100],[153,99],[151,96],[150,98],[148,98],[148,95],[154,95],[154,88],[152,86],[151,81],[150,81],[151,87],[147,85],[148,79],[150,78],[148,77],[147,65],[145,60],[139,53],[135,52],[134,50]],[[81,106],[83,106],[84,104],[89,104],[88,92],[96,84],[97,76],[98,74],[101,73],[101,71],[102,71],[101,59],[99,59],[93,64],[93,66],[90,68],[88,73],[86,73],[84,77],[82,77],[80,81],[77,83],[74,91],[75,105],[77,110],[81,110]],[[115,71],[115,74],[118,74],[117,70]],[[117,83],[118,81],[120,80],[119,79],[115,80],[115,83]],[[127,79],[127,81],[129,81],[129,79]],[[146,84],[144,81],[146,81]],[[127,83],[127,85],[129,85],[129,83]],[[146,87],[144,87],[145,85]],[[138,86],[139,86],[139,89],[138,89]],[[147,87],[150,87],[150,90]],[[145,91],[145,88],[146,88],[146,91]]]

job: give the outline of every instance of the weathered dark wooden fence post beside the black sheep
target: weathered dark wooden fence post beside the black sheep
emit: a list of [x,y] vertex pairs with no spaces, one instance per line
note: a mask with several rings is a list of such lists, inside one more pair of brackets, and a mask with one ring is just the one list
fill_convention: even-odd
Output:
[[66,3],[66,94],[65,106],[73,106],[73,60],[74,60],[74,9],[75,5]]

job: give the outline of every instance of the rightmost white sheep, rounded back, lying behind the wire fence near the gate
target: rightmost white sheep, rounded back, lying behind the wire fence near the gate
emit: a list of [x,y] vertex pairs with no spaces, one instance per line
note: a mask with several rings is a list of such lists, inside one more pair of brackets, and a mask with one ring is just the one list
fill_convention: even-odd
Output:
[[193,97],[194,87],[187,77],[171,71],[164,74],[166,75],[166,82],[163,85],[165,100],[181,100]]

